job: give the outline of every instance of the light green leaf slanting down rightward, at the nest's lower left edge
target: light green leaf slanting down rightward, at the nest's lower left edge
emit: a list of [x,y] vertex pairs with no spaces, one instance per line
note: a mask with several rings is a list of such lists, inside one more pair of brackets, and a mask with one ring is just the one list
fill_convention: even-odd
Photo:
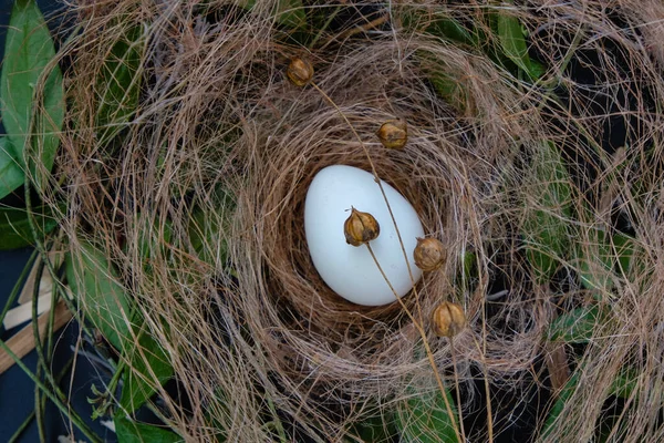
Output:
[[81,255],[65,258],[66,279],[87,318],[116,349],[132,348],[129,300],[117,271],[92,244],[81,244]]

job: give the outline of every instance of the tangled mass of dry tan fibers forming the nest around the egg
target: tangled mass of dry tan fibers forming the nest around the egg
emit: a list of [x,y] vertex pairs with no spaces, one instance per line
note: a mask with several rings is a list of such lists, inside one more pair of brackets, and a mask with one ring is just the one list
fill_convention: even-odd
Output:
[[[307,44],[284,24],[287,3],[70,6],[81,30],[61,48],[69,110],[50,197],[69,203],[72,254],[92,243],[118,267],[174,365],[181,393],[158,388],[165,420],[187,441],[339,441],[367,415],[408,414],[439,373],[461,414],[492,409],[466,420],[466,436],[486,441],[519,420],[532,389],[543,420],[571,369],[578,383],[540,436],[589,441],[629,368],[611,439],[662,441],[661,3],[304,2],[332,23],[305,29]],[[539,80],[497,55],[510,51],[489,23],[498,13],[527,29]],[[442,17],[484,40],[436,35]],[[111,75],[135,84],[110,95],[98,79],[118,51],[133,68]],[[288,81],[293,56],[312,62],[313,84]],[[395,116],[408,143],[386,151],[375,132]],[[375,165],[447,246],[403,306],[345,302],[312,266],[304,197],[333,164]],[[560,246],[546,279],[533,219],[552,223]],[[620,256],[598,233],[633,239],[630,269],[589,264]],[[453,343],[430,331],[443,300],[468,319]],[[547,338],[557,317],[591,305],[608,320],[589,341]]]

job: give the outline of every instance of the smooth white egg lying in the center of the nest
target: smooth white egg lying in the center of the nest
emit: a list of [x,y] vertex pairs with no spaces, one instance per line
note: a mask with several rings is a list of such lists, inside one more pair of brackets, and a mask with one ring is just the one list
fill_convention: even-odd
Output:
[[[413,250],[416,238],[424,237],[422,223],[408,200],[385,182],[381,183],[398,225],[413,279],[417,282],[422,271],[415,266]],[[345,241],[343,224],[351,214],[351,206],[370,213],[378,222],[381,234],[371,241],[371,247],[396,295],[403,297],[413,288],[381,188],[372,174],[352,166],[334,165],[321,169],[307,192],[304,230],[313,265],[325,284],[349,301],[365,306],[396,301],[369,248]]]

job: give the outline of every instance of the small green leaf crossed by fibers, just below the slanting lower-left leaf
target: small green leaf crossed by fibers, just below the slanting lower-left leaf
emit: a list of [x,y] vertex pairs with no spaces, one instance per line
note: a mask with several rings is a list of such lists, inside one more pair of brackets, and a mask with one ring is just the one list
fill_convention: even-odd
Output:
[[133,412],[157,391],[156,383],[164,384],[174,371],[162,346],[146,331],[128,354],[128,361],[120,405]]

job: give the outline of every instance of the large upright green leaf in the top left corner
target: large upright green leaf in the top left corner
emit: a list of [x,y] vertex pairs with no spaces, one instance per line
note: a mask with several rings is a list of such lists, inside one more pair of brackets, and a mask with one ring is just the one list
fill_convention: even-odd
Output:
[[[53,41],[39,7],[34,0],[17,0],[7,30],[0,74],[2,124],[11,142],[4,147],[11,147],[12,158],[21,166],[21,173],[29,171],[38,187],[41,187],[44,179],[38,171],[43,168],[50,172],[53,167],[59,144],[58,133],[64,117],[62,74],[58,65],[48,73],[43,86],[43,103],[38,106],[34,102],[40,78],[50,69],[48,64],[54,58]],[[32,151],[39,153],[41,165],[28,163],[27,158]],[[25,167],[27,164],[29,167]],[[14,169],[12,174],[15,175],[18,171]],[[8,183],[15,182],[14,176]]]

